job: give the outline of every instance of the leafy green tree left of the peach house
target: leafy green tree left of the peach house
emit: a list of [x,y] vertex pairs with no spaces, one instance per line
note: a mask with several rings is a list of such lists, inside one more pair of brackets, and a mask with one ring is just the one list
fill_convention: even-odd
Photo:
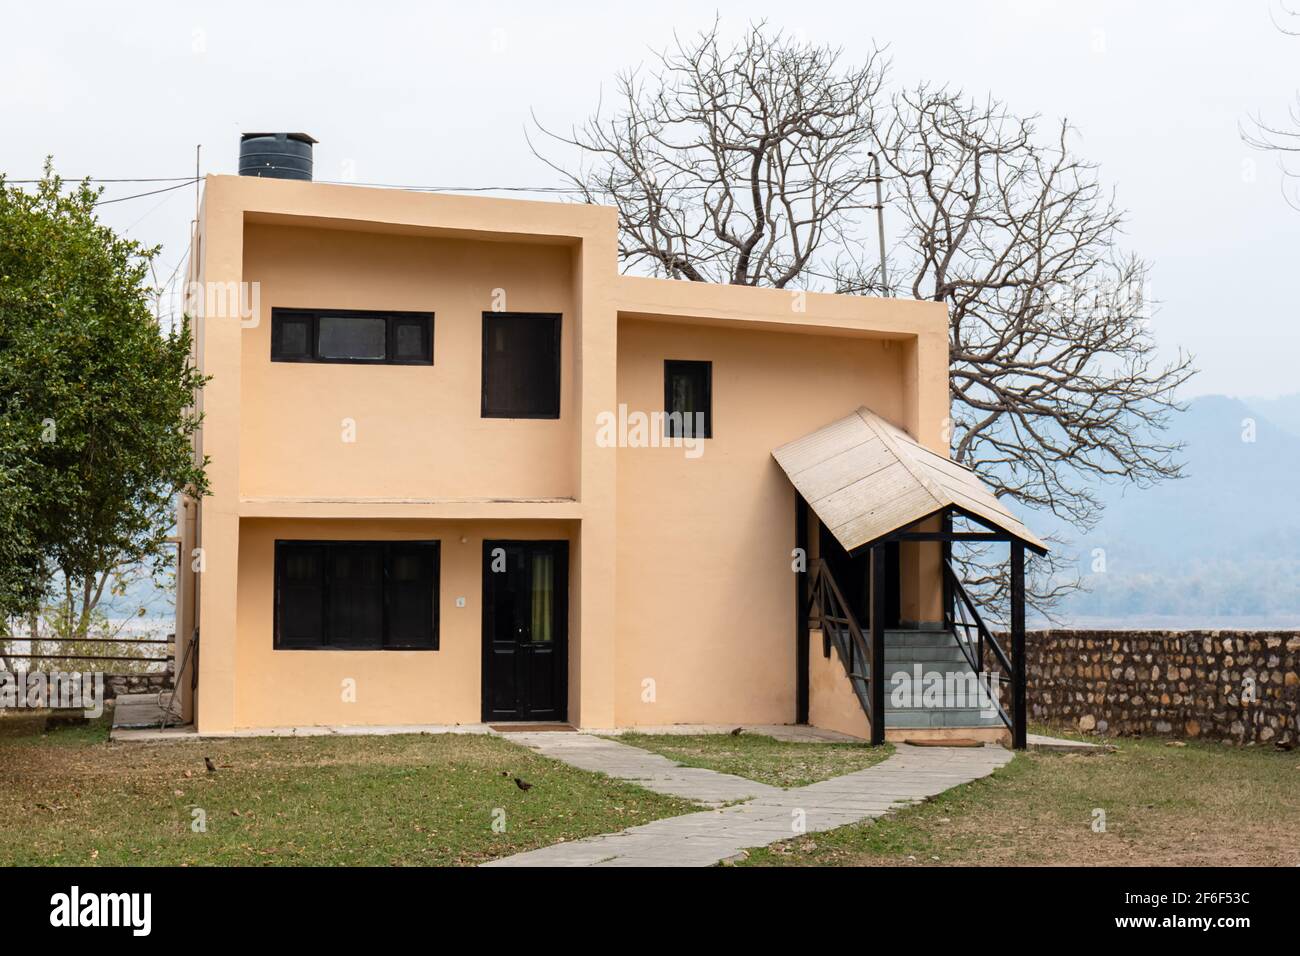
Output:
[[161,326],[159,250],[103,225],[100,191],[49,161],[30,191],[0,177],[0,611],[35,632],[55,600],[61,637],[120,568],[168,563],[177,493],[207,490],[188,320]]

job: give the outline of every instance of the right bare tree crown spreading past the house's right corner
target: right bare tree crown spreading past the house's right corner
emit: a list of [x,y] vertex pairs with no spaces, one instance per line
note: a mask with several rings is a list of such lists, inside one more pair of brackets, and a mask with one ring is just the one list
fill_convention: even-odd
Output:
[[[1188,359],[1161,363],[1148,267],[1119,247],[1123,215],[1096,169],[1001,104],[920,87],[879,131],[905,238],[890,272],[946,302],[953,458],[996,493],[1087,528],[1093,480],[1175,477],[1160,438]],[[841,272],[840,289],[862,290]]]

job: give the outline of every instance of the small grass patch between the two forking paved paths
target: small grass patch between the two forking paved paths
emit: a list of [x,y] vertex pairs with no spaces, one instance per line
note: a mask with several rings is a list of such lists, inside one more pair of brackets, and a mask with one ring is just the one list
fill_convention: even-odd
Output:
[[688,767],[736,774],[774,787],[805,787],[842,777],[893,753],[888,744],[803,744],[762,734],[620,734],[611,740],[662,753]]

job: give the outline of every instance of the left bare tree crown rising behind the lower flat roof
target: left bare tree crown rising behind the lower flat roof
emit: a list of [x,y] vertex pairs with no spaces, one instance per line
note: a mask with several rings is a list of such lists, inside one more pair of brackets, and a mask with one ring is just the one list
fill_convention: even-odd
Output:
[[618,111],[568,134],[588,202],[619,209],[629,271],[783,289],[842,247],[863,206],[861,155],[883,61],[840,70],[827,47],[753,27],[724,47],[716,25],[618,79]]

